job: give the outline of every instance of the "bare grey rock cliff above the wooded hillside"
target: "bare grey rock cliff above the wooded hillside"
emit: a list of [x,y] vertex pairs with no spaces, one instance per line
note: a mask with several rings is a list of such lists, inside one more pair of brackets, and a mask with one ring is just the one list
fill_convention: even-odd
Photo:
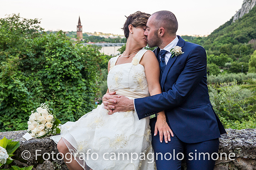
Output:
[[256,0],[243,0],[242,8],[234,15],[233,22],[242,18],[244,14],[249,13],[251,9],[256,5]]

